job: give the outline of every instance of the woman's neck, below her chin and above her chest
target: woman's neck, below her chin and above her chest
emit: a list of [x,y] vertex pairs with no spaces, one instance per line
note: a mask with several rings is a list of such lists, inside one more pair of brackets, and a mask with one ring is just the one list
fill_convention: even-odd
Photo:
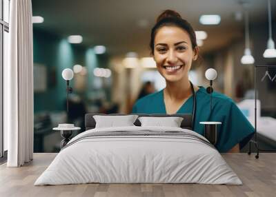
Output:
[[[195,92],[199,89],[194,85]],[[166,87],[164,89],[164,94],[170,99],[170,101],[182,101],[190,97],[193,92],[191,89],[190,81],[186,79],[181,82],[166,82]]]

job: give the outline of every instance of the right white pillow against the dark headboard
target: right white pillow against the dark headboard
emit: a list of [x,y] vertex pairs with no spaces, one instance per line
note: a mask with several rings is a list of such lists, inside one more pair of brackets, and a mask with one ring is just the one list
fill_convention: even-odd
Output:
[[161,126],[161,127],[180,127],[183,118],[181,117],[139,117],[141,127]]

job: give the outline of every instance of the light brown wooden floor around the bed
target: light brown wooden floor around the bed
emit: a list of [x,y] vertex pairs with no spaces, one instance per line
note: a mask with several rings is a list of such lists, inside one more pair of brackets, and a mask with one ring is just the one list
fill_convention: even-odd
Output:
[[0,196],[276,196],[276,153],[223,154],[244,185],[83,184],[33,186],[56,154],[34,154],[23,167],[0,166]]

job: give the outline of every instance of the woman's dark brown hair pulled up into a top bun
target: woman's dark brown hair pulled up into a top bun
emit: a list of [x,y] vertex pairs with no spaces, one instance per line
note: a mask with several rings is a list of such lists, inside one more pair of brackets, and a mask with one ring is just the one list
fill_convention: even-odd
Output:
[[185,30],[189,34],[193,49],[197,47],[197,38],[195,37],[195,31],[193,30],[192,25],[190,25],[190,23],[188,23],[185,19],[182,19],[180,14],[174,10],[164,10],[164,12],[157,17],[155,26],[152,28],[150,33],[150,50],[152,54],[154,54],[155,35],[157,30],[164,26],[177,26]]

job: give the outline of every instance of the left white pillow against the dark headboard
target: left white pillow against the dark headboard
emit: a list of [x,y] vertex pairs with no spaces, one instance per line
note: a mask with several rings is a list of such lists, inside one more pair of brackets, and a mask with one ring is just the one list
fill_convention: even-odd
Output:
[[128,127],[135,126],[137,115],[125,115],[125,116],[101,116],[95,115],[93,118],[96,121],[95,128],[103,127]]

